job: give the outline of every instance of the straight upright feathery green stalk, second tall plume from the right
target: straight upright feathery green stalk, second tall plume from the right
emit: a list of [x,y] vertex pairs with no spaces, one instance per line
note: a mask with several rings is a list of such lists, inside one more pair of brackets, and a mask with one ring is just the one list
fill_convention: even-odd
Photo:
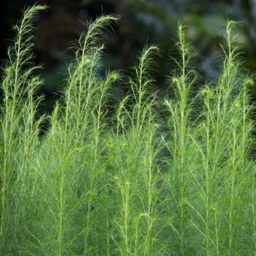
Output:
[[[189,116],[192,111],[192,99],[189,99],[191,87],[195,84],[195,74],[192,69],[189,69],[190,61],[190,46],[184,37],[184,29],[178,27],[178,50],[180,50],[181,61],[176,61],[178,66],[177,75],[173,75],[171,82],[176,95],[176,100],[165,100],[165,105],[169,110],[167,123],[170,130],[170,141],[167,143],[167,148],[173,158],[170,164],[170,170],[167,175],[167,184],[170,187],[170,208],[176,208],[178,226],[170,222],[170,228],[176,231],[178,235],[178,247],[180,255],[185,254],[185,226],[188,219],[186,197],[189,185],[189,169],[191,168],[192,150],[190,146],[190,121]],[[176,202],[173,205],[173,202]],[[170,218],[173,218],[174,214]]]

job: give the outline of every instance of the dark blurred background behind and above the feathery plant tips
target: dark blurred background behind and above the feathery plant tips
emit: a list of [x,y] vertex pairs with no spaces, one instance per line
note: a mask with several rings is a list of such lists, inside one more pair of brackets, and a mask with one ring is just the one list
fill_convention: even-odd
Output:
[[[114,26],[115,34],[107,33],[107,50],[103,59],[105,68],[131,67],[146,43],[161,45],[162,57],[157,57],[157,86],[165,89],[165,76],[170,75],[173,48],[178,23],[187,25],[187,36],[196,49],[193,64],[198,67],[202,80],[216,78],[219,71],[219,43],[223,42],[223,29],[227,19],[241,21],[238,40],[243,45],[244,66],[256,71],[256,0],[9,0],[0,2],[1,45],[0,59],[6,59],[8,39],[12,39],[12,26],[21,17],[26,5],[47,4],[48,11],[36,18],[36,61],[43,64],[45,80],[42,93],[45,102],[42,111],[50,111],[56,93],[64,86],[67,63],[72,50],[67,50],[86,27],[86,20],[102,13],[121,15]],[[99,70],[104,76],[105,70]],[[113,96],[118,99],[121,89]]]

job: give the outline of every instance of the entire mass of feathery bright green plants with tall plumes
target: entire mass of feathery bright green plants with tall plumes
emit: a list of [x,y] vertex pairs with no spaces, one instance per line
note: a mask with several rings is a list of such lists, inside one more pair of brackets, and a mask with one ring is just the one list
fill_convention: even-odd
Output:
[[[256,255],[252,79],[236,24],[226,26],[222,74],[198,93],[178,27],[181,58],[167,79],[175,97],[162,99],[156,45],[134,76],[99,76],[102,30],[117,20],[103,15],[80,36],[52,115],[38,118],[31,21],[43,9],[15,26],[2,73],[0,255]],[[116,80],[130,90],[110,114]]]

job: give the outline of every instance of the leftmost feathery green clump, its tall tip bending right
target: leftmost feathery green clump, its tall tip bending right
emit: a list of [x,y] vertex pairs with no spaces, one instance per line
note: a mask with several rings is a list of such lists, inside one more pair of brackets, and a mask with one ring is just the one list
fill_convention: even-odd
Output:
[[[45,7],[34,6],[26,10],[23,19],[14,27],[16,37],[8,48],[8,62],[2,75],[1,89],[4,92],[1,106],[1,226],[0,248],[26,248],[27,233],[24,222],[29,222],[31,211],[26,200],[31,200],[34,181],[34,156],[38,146],[38,127],[42,118],[35,121],[35,112],[40,99],[34,99],[41,81],[37,69],[31,63],[33,30],[31,19]],[[23,239],[25,241],[23,241]],[[17,242],[15,242],[18,241]]]

